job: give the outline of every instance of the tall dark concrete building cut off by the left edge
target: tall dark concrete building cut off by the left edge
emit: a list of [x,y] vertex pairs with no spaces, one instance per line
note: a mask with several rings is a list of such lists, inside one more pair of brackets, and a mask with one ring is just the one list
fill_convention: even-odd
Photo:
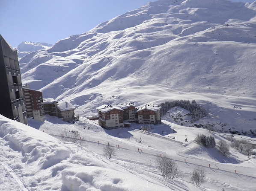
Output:
[[0,35],[0,114],[27,124],[17,50]]

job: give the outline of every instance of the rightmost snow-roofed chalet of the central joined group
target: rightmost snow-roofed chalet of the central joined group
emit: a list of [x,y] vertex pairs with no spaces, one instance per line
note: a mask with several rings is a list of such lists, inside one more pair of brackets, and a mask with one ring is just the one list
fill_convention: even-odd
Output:
[[138,123],[161,124],[160,109],[157,105],[145,105],[137,110]]

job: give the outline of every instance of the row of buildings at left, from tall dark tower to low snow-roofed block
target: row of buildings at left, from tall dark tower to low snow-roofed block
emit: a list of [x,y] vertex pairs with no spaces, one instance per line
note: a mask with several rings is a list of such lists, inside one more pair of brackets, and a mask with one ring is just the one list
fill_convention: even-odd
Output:
[[9,119],[28,124],[28,117],[43,121],[45,113],[63,118],[64,121],[76,120],[74,106],[69,102],[43,99],[42,92],[22,86],[17,50],[0,35],[0,114]]

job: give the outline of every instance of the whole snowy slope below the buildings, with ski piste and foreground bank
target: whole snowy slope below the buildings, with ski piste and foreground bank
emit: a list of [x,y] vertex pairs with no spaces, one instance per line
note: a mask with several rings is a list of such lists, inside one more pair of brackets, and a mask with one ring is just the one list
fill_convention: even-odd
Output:
[[[0,190],[256,191],[255,156],[248,158],[230,148],[224,157],[216,148],[205,149],[193,142],[198,133],[204,133],[216,142],[231,144],[226,139],[229,134],[182,127],[171,123],[168,116],[164,119],[149,133],[139,130],[138,124],[104,130],[87,119],[69,124],[46,116],[44,123],[30,119],[30,127],[0,116]],[[82,141],[64,142],[64,129],[78,131]],[[188,142],[184,142],[185,135]],[[241,137],[256,144],[255,138],[234,139]],[[116,149],[111,159],[102,156],[107,143]],[[161,155],[179,166],[180,178],[161,177],[155,163]],[[190,174],[198,167],[205,170],[206,181],[197,188]]]

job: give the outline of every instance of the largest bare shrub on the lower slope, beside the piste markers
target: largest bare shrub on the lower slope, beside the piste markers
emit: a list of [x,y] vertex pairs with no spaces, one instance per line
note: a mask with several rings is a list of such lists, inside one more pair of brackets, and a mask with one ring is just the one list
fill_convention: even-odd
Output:
[[158,156],[156,163],[158,169],[161,171],[162,177],[167,179],[176,179],[181,176],[178,166],[172,159]]

